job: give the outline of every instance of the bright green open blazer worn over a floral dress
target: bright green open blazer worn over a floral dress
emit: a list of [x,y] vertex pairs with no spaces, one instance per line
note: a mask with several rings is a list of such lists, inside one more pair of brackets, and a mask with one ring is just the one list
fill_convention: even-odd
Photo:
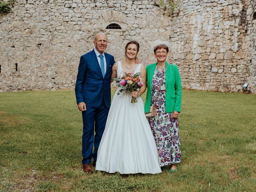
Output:
[[[154,71],[156,69],[156,64],[151,64],[146,67],[147,71],[147,97],[145,102],[145,112],[149,112],[150,103],[151,103],[151,93],[152,93],[152,78]],[[165,68],[168,65],[168,62],[165,63]],[[165,82],[166,82],[166,112],[171,113],[173,111],[180,112],[181,106],[181,80],[178,67],[174,64],[169,64],[165,72]]]

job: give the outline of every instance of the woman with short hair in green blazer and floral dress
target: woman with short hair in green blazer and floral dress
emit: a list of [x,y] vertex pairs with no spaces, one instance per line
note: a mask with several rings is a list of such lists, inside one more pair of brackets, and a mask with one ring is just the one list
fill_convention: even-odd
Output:
[[149,112],[150,106],[156,101],[156,116],[149,117],[148,121],[158,148],[159,164],[171,165],[170,172],[176,172],[175,164],[181,160],[178,131],[181,81],[178,67],[166,62],[168,52],[169,48],[165,44],[156,46],[154,55],[157,62],[146,67],[148,92],[145,112]]

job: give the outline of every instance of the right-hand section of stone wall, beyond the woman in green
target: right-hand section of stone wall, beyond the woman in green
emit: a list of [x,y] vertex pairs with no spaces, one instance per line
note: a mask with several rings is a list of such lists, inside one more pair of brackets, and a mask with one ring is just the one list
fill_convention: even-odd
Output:
[[[186,2],[186,3],[185,3]],[[172,58],[183,87],[256,93],[255,1],[183,1],[172,23]]]

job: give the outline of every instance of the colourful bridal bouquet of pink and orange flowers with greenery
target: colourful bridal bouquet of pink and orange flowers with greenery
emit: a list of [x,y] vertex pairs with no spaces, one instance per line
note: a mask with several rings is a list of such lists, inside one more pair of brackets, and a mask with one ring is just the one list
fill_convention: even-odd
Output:
[[[140,72],[136,74],[124,72],[122,77],[114,78],[114,81],[116,82],[117,87],[121,88],[117,93],[118,95],[127,90],[130,92],[137,91],[138,88],[142,87],[143,85],[142,78],[140,78]],[[131,103],[136,102],[138,102],[137,98],[132,96]]]

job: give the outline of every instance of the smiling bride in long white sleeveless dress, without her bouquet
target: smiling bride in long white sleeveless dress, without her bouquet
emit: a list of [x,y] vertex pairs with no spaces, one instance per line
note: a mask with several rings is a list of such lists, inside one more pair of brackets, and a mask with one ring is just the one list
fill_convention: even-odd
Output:
[[[120,174],[160,173],[158,150],[140,96],[146,90],[146,68],[134,63],[138,42],[128,42],[125,50],[125,60],[112,68],[112,79],[122,76],[123,72],[140,72],[144,85],[138,92],[117,95],[118,89],[114,94],[98,149],[96,170]],[[137,98],[137,103],[131,103],[132,96]]]

